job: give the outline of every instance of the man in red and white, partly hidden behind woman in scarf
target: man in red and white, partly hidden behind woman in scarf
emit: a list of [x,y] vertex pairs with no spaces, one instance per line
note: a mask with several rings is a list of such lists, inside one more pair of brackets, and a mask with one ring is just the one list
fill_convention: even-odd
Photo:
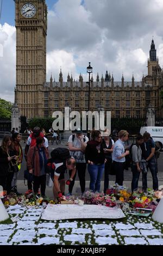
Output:
[[[36,146],[36,139],[37,138],[44,138],[44,147],[48,149],[48,140],[46,137],[44,137],[43,133],[41,132],[41,129],[40,127],[34,127],[33,129],[33,133],[29,135],[28,139],[27,139],[27,144],[26,144],[26,147],[25,147],[25,154],[24,154],[24,157],[27,161],[27,153],[28,153],[28,150],[29,148],[31,147],[35,147]],[[32,190],[32,174],[28,174],[28,180],[27,180],[27,185],[28,185],[28,191],[26,192],[26,194],[30,194],[33,192]]]

